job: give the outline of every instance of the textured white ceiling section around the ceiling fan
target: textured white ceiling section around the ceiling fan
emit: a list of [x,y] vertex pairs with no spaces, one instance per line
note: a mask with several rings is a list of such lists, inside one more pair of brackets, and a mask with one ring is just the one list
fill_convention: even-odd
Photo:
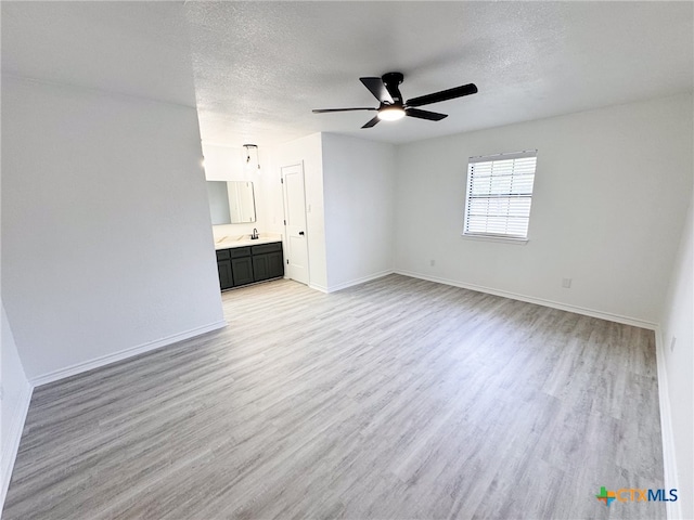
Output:
[[[690,2],[188,2],[203,139],[270,144],[314,131],[394,143],[692,90]],[[404,99],[479,93],[362,130],[360,76]]]

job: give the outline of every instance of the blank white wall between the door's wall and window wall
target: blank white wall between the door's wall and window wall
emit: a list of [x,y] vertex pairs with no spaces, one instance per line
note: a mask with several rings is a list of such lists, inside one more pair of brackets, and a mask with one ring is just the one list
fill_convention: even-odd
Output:
[[393,272],[393,144],[323,133],[327,289]]

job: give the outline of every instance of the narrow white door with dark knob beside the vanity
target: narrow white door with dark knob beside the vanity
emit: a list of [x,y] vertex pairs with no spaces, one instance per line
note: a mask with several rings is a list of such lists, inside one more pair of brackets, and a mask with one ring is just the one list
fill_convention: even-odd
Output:
[[304,165],[283,166],[281,170],[284,192],[287,276],[308,285],[308,242],[306,237]]

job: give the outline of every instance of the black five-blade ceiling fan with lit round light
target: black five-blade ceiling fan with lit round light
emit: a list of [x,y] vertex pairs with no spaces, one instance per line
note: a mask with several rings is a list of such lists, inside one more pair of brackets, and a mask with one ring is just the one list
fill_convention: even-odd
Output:
[[402,102],[402,94],[398,86],[402,82],[401,73],[387,73],[381,78],[359,78],[359,80],[369,89],[369,91],[378,100],[381,105],[378,108],[372,108],[370,106],[361,106],[356,108],[322,108],[314,109],[313,114],[325,114],[330,112],[350,112],[350,110],[376,110],[377,114],[369,122],[361,128],[371,128],[378,123],[378,121],[395,121],[404,116],[417,117],[420,119],[428,119],[430,121],[440,121],[447,114],[439,114],[437,112],[421,110],[415,108],[416,106],[429,105],[432,103],[438,103],[440,101],[454,100],[455,98],[462,98],[463,95],[470,95],[477,93],[477,87],[475,83],[462,84],[448,90],[441,90],[440,92],[434,92],[432,94],[420,95],[419,98],[412,98],[407,102]]

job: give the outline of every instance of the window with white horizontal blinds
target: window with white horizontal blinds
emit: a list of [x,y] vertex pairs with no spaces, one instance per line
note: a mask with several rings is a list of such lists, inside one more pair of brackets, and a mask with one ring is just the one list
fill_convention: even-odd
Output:
[[537,154],[470,158],[464,236],[528,238]]

